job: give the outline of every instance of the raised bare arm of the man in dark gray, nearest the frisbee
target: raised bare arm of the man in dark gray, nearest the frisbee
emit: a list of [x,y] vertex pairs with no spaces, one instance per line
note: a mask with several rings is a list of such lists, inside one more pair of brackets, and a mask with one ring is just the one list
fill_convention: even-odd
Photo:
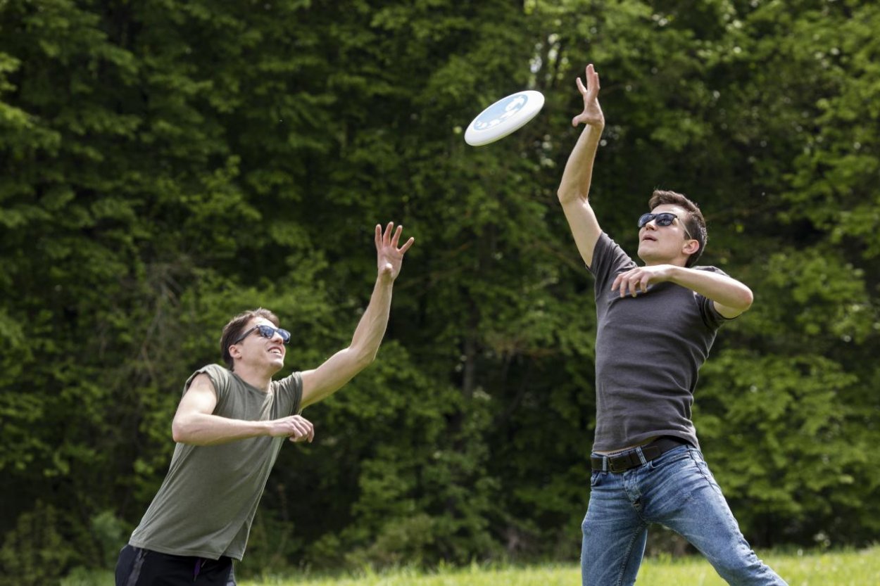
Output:
[[598,72],[592,64],[587,66],[584,77],[587,80],[586,86],[583,85],[580,77],[577,78],[577,89],[583,96],[583,113],[572,119],[571,124],[577,126],[583,122],[586,127],[578,137],[575,148],[568,155],[557,195],[568,220],[568,226],[575,237],[577,250],[589,267],[593,261],[593,249],[602,232],[588,197],[593,177],[593,163],[602,130],[605,128],[605,116],[598,102]]

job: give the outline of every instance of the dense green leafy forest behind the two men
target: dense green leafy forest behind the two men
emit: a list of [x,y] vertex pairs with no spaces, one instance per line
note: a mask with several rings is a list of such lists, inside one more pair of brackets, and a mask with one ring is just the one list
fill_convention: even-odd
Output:
[[[876,542],[878,30],[850,0],[0,0],[0,582],[112,567],[224,323],[269,307],[281,374],[318,365],[388,221],[416,244],[378,361],[305,413],[242,571],[576,560],[595,307],[555,191],[588,62],[605,231],[634,251],[652,189],[688,194],[755,293],[694,408],[746,537]],[[539,116],[467,146],[523,89]]]

